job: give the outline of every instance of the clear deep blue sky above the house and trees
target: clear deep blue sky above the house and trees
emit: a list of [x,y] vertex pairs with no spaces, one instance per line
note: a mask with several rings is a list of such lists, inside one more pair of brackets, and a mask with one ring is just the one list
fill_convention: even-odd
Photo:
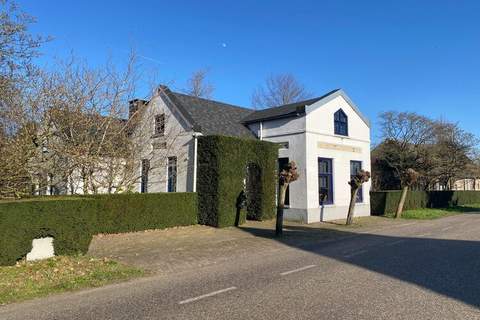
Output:
[[480,136],[480,1],[18,2],[55,38],[41,63],[124,61],[133,47],[159,82],[209,68],[214,98],[241,106],[289,72],[314,95],[343,88],[374,124],[408,110]]

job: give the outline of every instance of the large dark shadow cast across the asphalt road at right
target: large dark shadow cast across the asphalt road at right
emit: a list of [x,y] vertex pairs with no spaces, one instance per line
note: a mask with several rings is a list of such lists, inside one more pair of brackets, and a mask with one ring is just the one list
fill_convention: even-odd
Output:
[[[240,229],[480,307],[478,241],[384,236],[302,226],[289,226],[284,229],[284,236],[278,238],[274,230]],[[312,241],[305,241],[309,239]],[[367,252],[354,254],[366,246]]]

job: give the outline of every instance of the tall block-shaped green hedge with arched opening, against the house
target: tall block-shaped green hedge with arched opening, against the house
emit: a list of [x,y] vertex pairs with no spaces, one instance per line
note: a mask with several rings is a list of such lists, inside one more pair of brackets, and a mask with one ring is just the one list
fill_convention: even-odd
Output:
[[[245,218],[263,220],[275,215],[278,146],[271,142],[225,136],[203,136],[198,140],[197,192],[199,223],[215,227],[235,225],[237,204],[247,179],[247,166],[258,174],[247,191]],[[248,181],[247,181],[247,184]],[[249,190],[249,188],[247,188]]]

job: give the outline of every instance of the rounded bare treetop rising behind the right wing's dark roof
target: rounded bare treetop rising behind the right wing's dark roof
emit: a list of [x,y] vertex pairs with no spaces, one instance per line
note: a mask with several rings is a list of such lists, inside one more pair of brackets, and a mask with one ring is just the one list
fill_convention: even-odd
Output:
[[259,86],[252,95],[254,108],[268,108],[306,100],[311,94],[292,74],[269,76],[265,85]]

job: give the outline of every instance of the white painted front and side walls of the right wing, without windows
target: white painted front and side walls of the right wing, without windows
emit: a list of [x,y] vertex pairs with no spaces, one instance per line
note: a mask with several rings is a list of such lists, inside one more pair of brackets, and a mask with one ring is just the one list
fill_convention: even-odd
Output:
[[[342,109],[348,116],[349,136],[334,134],[334,113]],[[370,128],[341,95],[324,103],[306,107],[306,115],[264,121],[263,139],[288,142],[288,149],[279,150],[279,157],[288,157],[299,168],[299,179],[290,185],[290,208],[286,217],[302,222],[346,218],[350,203],[350,161],[362,162],[370,171]],[[258,129],[258,126],[250,126]],[[319,145],[320,143],[320,145]],[[320,208],[318,199],[318,158],[333,162],[334,203]],[[355,216],[370,215],[370,182],[363,186],[363,202],[355,207]],[[322,216],[321,216],[322,215]]]

